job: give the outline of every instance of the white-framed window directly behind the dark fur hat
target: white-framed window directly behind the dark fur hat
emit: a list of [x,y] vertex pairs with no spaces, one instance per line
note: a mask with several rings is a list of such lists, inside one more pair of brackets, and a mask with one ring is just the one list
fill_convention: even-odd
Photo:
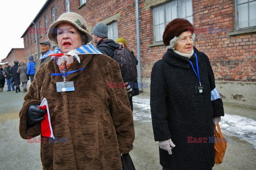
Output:
[[[187,14],[187,6],[186,6],[186,1],[190,1],[189,3],[191,3],[191,14]],[[256,0],[255,0],[256,1]],[[185,4],[185,16],[181,16],[181,12],[182,12],[182,2],[183,4]],[[171,6],[170,6],[171,5]],[[172,8],[175,5],[175,11],[172,12]],[[170,19],[167,21],[167,16],[166,16],[166,8],[167,6],[170,7],[170,11],[173,14],[173,16],[170,16]],[[163,10],[163,12],[161,11],[161,8]],[[190,22],[192,21],[193,24],[193,1],[192,0],[175,0],[175,1],[171,1],[168,2],[166,4],[163,5],[159,5],[153,8],[153,28],[154,28],[154,43],[161,43],[163,41],[163,32],[165,29],[165,26],[172,21],[175,18],[183,18],[183,19],[188,19],[190,20]],[[160,19],[160,14],[159,12],[162,12],[163,14],[163,18]],[[157,15],[158,13],[158,15]],[[158,16],[158,22],[156,22],[156,18]],[[160,20],[163,20],[163,22],[160,23]],[[156,24],[157,23],[157,24]],[[156,39],[156,35],[158,34],[158,39]]]

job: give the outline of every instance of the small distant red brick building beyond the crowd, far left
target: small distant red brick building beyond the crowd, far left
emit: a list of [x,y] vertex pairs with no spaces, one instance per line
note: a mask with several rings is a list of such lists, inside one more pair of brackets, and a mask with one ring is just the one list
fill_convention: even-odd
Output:
[[9,65],[12,66],[14,65],[14,60],[18,60],[19,62],[24,62],[27,64],[24,48],[12,48],[7,56],[1,61],[1,63],[8,62]]

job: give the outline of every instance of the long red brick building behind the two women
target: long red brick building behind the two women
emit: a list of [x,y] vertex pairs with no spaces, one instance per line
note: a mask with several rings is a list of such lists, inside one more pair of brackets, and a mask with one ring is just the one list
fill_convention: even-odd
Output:
[[[209,56],[217,87],[223,101],[256,108],[256,2],[245,0],[141,0],[139,8],[141,81],[150,84],[151,68],[162,58],[165,25],[185,18],[195,26],[195,46]],[[123,37],[137,53],[136,5],[134,0],[63,0],[47,1],[33,22],[37,28],[49,27],[64,12],[76,12],[92,30],[97,22],[109,27],[109,38]],[[35,27],[31,22],[28,27]],[[28,33],[22,38],[25,56],[39,53],[39,42],[46,33]],[[55,46],[55,45],[53,45]],[[149,92],[149,88],[143,89]]]

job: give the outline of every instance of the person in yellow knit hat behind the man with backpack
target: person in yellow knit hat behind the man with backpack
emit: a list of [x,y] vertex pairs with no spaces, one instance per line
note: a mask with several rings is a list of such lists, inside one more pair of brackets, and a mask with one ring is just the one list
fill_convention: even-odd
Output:
[[[138,65],[138,60],[135,57],[134,53],[132,50],[130,50],[127,46],[127,41],[124,38],[117,38],[116,39],[116,43],[119,44],[120,46],[126,48],[127,50],[129,50],[129,52],[131,53],[131,56],[133,57],[136,65]],[[133,82],[129,82],[131,88],[134,90],[134,96],[137,96],[140,94],[139,91],[139,84],[138,84],[138,80],[135,80]],[[132,96],[129,96],[129,101],[130,101],[130,105],[131,105],[131,109],[133,111],[133,103],[132,103]]]

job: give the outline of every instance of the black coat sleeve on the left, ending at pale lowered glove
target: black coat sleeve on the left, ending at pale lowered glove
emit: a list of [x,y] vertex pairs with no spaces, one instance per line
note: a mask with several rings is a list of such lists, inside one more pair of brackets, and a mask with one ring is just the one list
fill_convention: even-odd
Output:
[[156,62],[151,71],[150,109],[155,141],[170,139],[171,131],[167,121],[166,94],[161,62]]

